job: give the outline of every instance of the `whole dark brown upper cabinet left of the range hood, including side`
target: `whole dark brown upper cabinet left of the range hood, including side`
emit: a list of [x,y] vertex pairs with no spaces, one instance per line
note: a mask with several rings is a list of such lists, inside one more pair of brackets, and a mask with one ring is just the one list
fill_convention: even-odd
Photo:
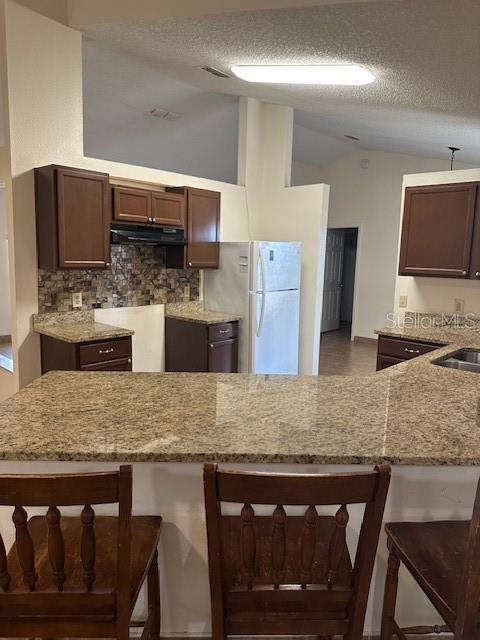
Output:
[[35,169],[40,269],[110,266],[109,176],[57,165]]

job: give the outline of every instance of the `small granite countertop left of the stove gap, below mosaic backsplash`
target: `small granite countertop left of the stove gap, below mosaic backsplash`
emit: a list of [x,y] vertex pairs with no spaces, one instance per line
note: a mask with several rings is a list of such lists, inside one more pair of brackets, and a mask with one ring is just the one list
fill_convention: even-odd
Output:
[[72,343],[125,338],[135,333],[130,329],[95,322],[94,312],[91,310],[35,315],[33,330],[45,336]]

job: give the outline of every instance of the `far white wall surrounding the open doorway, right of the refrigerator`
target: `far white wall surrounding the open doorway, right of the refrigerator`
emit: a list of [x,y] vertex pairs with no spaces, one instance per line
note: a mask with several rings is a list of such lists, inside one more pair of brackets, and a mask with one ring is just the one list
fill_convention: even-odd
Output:
[[[368,168],[362,168],[361,160],[369,161]],[[385,316],[393,310],[404,174],[445,166],[447,158],[360,149],[323,170],[331,189],[328,226],[360,227],[353,335],[375,337],[374,330],[385,326]],[[430,174],[424,175],[428,184]],[[452,179],[450,172],[445,175]]]

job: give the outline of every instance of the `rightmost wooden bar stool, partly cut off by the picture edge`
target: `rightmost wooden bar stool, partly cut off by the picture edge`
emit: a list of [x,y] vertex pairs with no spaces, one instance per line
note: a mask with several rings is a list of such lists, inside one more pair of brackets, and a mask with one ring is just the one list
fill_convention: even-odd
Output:
[[[392,522],[385,526],[388,558],[381,640],[394,636],[453,633],[454,640],[480,639],[480,483],[470,521]],[[400,563],[445,625],[400,628],[395,621]]]

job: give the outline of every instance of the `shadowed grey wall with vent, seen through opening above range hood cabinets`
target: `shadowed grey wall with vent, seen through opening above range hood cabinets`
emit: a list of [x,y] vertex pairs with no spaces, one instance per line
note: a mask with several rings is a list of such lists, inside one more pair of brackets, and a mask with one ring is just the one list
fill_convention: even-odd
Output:
[[[83,65],[86,156],[236,183],[236,96],[201,90],[88,39]],[[180,118],[149,115],[156,107]]]

